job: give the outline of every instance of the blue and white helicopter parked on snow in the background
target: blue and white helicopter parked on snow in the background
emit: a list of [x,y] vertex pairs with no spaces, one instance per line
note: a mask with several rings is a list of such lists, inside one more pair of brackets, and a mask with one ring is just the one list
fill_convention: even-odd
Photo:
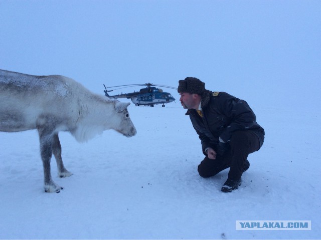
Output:
[[[128,88],[128,87],[135,87],[135,86],[146,86],[146,88],[142,88],[139,90],[139,92],[133,92],[133,93],[121,93],[117,95],[110,96],[108,92],[112,92],[113,90],[121,89],[121,88]],[[175,101],[175,98],[172,96],[172,94],[163,92],[162,89],[156,88],[156,87],[165,87],[165,88],[171,88],[171,89],[177,89],[170,86],[164,86],[164,85],[155,85],[152,83],[145,83],[145,84],[128,84],[128,85],[120,85],[120,86],[113,86],[113,87],[105,87],[104,93],[105,96],[108,98],[130,98],[132,103],[136,106],[140,105],[149,105],[150,107],[153,107],[155,104],[162,104],[162,107],[165,107],[165,103],[170,103]],[[119,87],[119,88],[118,88]],[[117,88],[113,90],[107,90],[107,88]]]

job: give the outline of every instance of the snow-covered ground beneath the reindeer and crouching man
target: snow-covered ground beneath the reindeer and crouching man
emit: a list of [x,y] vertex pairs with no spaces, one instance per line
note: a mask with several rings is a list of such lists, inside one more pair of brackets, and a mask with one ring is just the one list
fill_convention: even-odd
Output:
[[[74,175],[58,178],[52,159],[59,194],[43,190],[37,132],[0,133],[0,238],[318,238],[320,115],[254,109],[265,143],[231,193],[220,190],[227,170],[198,175],[200,141],[178,101],[129,106],[132,138],[110,130],[80,144],[61,133]],[[312,229],[236,230],[236,220],[311,220]]]

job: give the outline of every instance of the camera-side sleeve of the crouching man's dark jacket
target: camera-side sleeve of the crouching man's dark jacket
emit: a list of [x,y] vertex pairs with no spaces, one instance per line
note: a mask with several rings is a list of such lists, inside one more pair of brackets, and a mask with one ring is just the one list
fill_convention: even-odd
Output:
[[246,101],[227,93],[222,93],[218,99],[220,110],[230,119],[230,125],[225,127],[220,134],[224,142],[230,141],[233,132],[249,129],[256,122],[256,116]]

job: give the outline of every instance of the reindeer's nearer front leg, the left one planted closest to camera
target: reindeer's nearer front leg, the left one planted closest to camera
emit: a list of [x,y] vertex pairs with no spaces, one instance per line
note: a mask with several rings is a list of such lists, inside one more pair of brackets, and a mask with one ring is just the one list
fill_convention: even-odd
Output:
[[61,186],[57,185],[51,177],[50,160],[52,157],[53,130],[49,128],[38,128],[40,139],[40,154],[44,166],[44,188],[45,192],[60,192]]

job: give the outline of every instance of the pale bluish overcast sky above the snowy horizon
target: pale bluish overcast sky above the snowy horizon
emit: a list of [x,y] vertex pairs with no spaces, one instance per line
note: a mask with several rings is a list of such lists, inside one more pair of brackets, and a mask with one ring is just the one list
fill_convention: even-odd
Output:
[[321,100],[320,16],[309,0],[0,0],[0,69],[65,75],[101,94],[103,83],[198,77],[250,102],[304,106]]

